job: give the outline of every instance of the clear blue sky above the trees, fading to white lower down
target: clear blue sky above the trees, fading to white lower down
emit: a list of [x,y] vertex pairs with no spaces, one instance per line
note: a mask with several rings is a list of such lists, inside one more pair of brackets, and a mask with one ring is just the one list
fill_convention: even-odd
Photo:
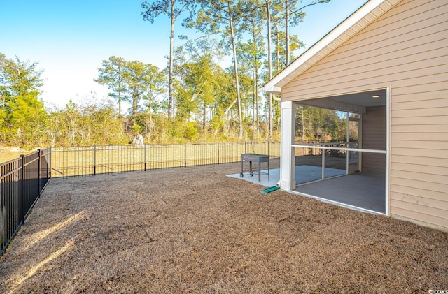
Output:
[[[306,1],[306,0],[305,0]],[[291,29],[310,47],[367,0],[332,0],[311,6]],[[169,20],[141,17],[141,0],[0,0],[0,52],[7,58],[38,61],[43,69],[41,98],[46,106],[79,103],[90,92],[107,96],[93,81],[102,60],[115,55],[159,68],[167,66]],[[306,2],[304,2],[306,3]],[[197,34],[176,24],[176,36]],[[176,40],[174,45],[181,45]]]

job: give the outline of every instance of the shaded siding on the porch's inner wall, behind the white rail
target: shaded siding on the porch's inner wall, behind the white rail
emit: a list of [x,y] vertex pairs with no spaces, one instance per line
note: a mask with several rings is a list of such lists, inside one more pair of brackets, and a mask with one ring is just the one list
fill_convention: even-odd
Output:
[[[363,149],[386,150],[386,107],[368,107],[363,115]],[[385,172],[386,155],[362,154],[363,172]]]

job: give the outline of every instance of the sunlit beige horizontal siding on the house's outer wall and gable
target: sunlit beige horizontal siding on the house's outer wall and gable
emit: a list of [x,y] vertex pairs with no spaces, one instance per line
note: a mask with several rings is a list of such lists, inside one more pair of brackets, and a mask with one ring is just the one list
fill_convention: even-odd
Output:
[[300,101],[386,87],[391,89],[389,212],[448,229],[448,1],[401,1],[284,86],[281,98]]

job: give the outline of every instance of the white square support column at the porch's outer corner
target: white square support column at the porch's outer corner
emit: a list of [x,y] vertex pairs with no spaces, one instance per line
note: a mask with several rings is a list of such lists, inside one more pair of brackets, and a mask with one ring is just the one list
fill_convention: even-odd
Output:
[[295,103],[281,102],[280,188],[295,189]]

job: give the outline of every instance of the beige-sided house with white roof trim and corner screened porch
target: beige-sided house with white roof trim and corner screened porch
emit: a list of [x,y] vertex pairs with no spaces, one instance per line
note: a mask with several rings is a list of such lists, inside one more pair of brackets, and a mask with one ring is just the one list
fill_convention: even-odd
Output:
[[[281,189],[448,230],[448,1],[367,1],[265,91],[281,101]],[[357,138],[297,142],[301,105],[344,113]]]

